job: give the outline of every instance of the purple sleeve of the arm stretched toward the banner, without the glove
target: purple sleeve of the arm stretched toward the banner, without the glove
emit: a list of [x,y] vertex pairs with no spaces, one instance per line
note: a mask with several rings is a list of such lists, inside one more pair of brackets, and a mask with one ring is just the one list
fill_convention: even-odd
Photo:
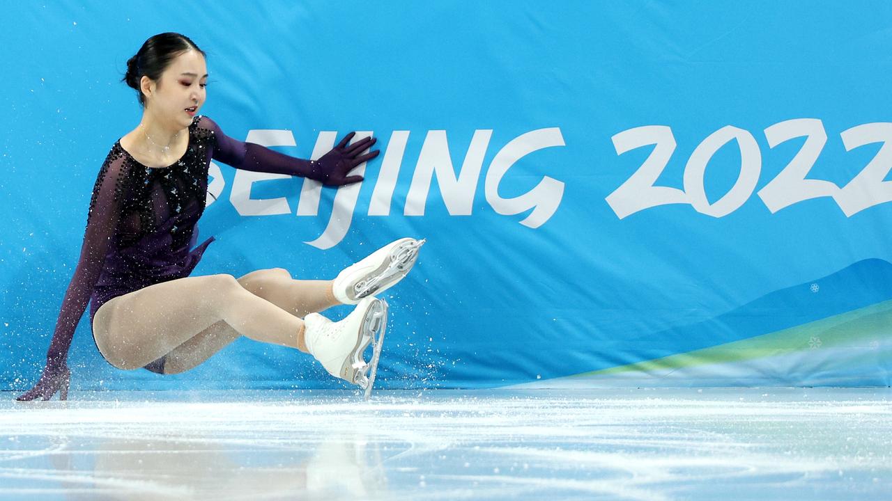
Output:
[[211,130],[217,138],[217,144],[211,155],[215,160],[243,170],[289,174],[326,181],[326,172],[320,168],[316,161],[290,157],[260,144],[245,143],[233,139],[223,134],[217,123],[208,117],[202,117],[199,126]]

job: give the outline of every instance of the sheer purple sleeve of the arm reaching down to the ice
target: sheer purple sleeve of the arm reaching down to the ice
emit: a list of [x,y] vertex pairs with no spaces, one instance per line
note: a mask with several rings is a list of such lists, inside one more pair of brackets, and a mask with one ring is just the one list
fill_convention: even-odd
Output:
[[128,166],[124,157],[115,158],[110,154],[96,177],[78,267],[62,300],[62,311],[56,320],[53,341],[46,353],[47,366],[65,365],[68,358],[74,330],[99,280],[105,254],[118,226],[120,199]]

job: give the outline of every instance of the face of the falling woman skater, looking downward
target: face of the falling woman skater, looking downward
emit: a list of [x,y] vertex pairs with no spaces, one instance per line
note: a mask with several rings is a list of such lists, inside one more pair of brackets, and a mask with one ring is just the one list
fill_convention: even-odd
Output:
[[[189,49],[174,58],[161,78],[143,77],[145,109],[174,127],[188,127],[204,104],[208,70],[202,53]],[[186,108],[194,106],[194,111]]]

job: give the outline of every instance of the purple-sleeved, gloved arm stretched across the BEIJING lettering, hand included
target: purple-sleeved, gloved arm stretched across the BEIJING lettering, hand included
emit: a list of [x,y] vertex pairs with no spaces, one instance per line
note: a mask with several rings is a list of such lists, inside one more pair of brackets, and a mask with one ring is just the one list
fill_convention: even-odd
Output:
[[260,144],[233,139],[223,134],[217,123],[208,117],[202,117],[199,125],[213,131],[217,137],[217,144],[212,154],[216,160],[244,170],[309,177],[324,185],[350,185],[362,181],[361,176],[347,176],[347,174],[360,163],[374,159],[379,153],[376,150],[360,155],[359,153],[375,144],[377,138],[366,137],[348,146],[347,143],[356,134],[351,132],[319,160],[303,160],[270,150]]

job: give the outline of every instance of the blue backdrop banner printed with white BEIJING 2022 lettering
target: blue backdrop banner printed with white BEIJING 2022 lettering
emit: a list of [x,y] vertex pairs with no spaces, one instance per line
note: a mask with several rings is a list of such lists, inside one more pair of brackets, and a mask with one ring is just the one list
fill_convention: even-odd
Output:
[[[35,382],[90,190],[156,33],[208,53],[202,113],[361,185],[211,165],[194,275],[333,278],[426,238],[384,293],[383,388],[888,385],[888,2],[4,4],[2,380]],[[347,307],[326,315],[340,318]],[[162,314],[162,313],[161,313]],[[121,371],[88,316],[74,389],[338,388],[246,338]]]

